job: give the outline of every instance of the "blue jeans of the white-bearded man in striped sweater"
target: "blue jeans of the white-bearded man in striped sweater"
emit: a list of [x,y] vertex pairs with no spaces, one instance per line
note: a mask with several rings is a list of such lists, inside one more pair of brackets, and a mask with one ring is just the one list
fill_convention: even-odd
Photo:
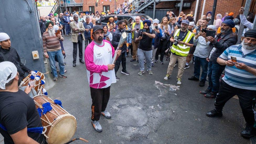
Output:
[[61,50],[57,51],[47,51],[47,54],[49,56],[49,61],[50,61],[50,66],[52,70],[52,74],[54,77],[58,77],[57,70],[55,67],[55,56],[59,62],[59,67],[60,67],[60,74],[64,74],[64,64],[63,64],[63,55]]

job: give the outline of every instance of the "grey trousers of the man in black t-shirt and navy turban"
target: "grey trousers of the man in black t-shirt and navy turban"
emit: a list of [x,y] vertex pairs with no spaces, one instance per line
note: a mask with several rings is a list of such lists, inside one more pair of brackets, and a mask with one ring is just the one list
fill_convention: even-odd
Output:
[[138,49],[140,71],[144,71],[144,57],[146,58],[146,61],[147,61],[147,70],[151,71],[152,50],[143,51],[142,49]]

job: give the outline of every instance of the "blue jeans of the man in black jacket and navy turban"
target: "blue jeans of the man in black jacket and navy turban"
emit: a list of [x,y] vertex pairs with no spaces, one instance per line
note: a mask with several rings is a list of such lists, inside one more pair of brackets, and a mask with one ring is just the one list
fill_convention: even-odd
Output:
[[224,71],[225,65],[219,65],[217,62],[208,63],[208,80],[209,87],[208,90],[211,90],[214,93],[218,93],[220,87],[220,76]]

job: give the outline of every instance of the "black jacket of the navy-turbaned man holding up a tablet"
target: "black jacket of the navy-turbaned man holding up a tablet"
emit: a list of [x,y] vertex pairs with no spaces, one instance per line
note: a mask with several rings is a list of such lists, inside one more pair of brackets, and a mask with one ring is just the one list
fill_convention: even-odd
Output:
[[220,41],[216,41],[214,44],[211,42],[209,44],[210,49],[213,47],[216,48],[216,50],[212,53],[210,61],[216,62],[217,58],[230,46],[235,45],[237,42],[237,34],[233,33],[232,29],[230,29],[227,34],[223,35],[222,33],[218,34],[215,38],[215,40],[218,40],[221,38]]

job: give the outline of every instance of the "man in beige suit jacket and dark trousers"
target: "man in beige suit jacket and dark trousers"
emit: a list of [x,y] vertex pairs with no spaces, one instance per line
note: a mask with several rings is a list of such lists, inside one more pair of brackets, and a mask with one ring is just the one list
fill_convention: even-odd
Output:
[[76,66],[76,56],[77,56],[77,44],[79,50],[79,62],[84,63],[83,61],[83,40],[84,38],[84,25],[82,22],[78,22],[78,15],[73,15],[74,21],[70,23],[72,30],[71,41],[73,42],[73,67]]

